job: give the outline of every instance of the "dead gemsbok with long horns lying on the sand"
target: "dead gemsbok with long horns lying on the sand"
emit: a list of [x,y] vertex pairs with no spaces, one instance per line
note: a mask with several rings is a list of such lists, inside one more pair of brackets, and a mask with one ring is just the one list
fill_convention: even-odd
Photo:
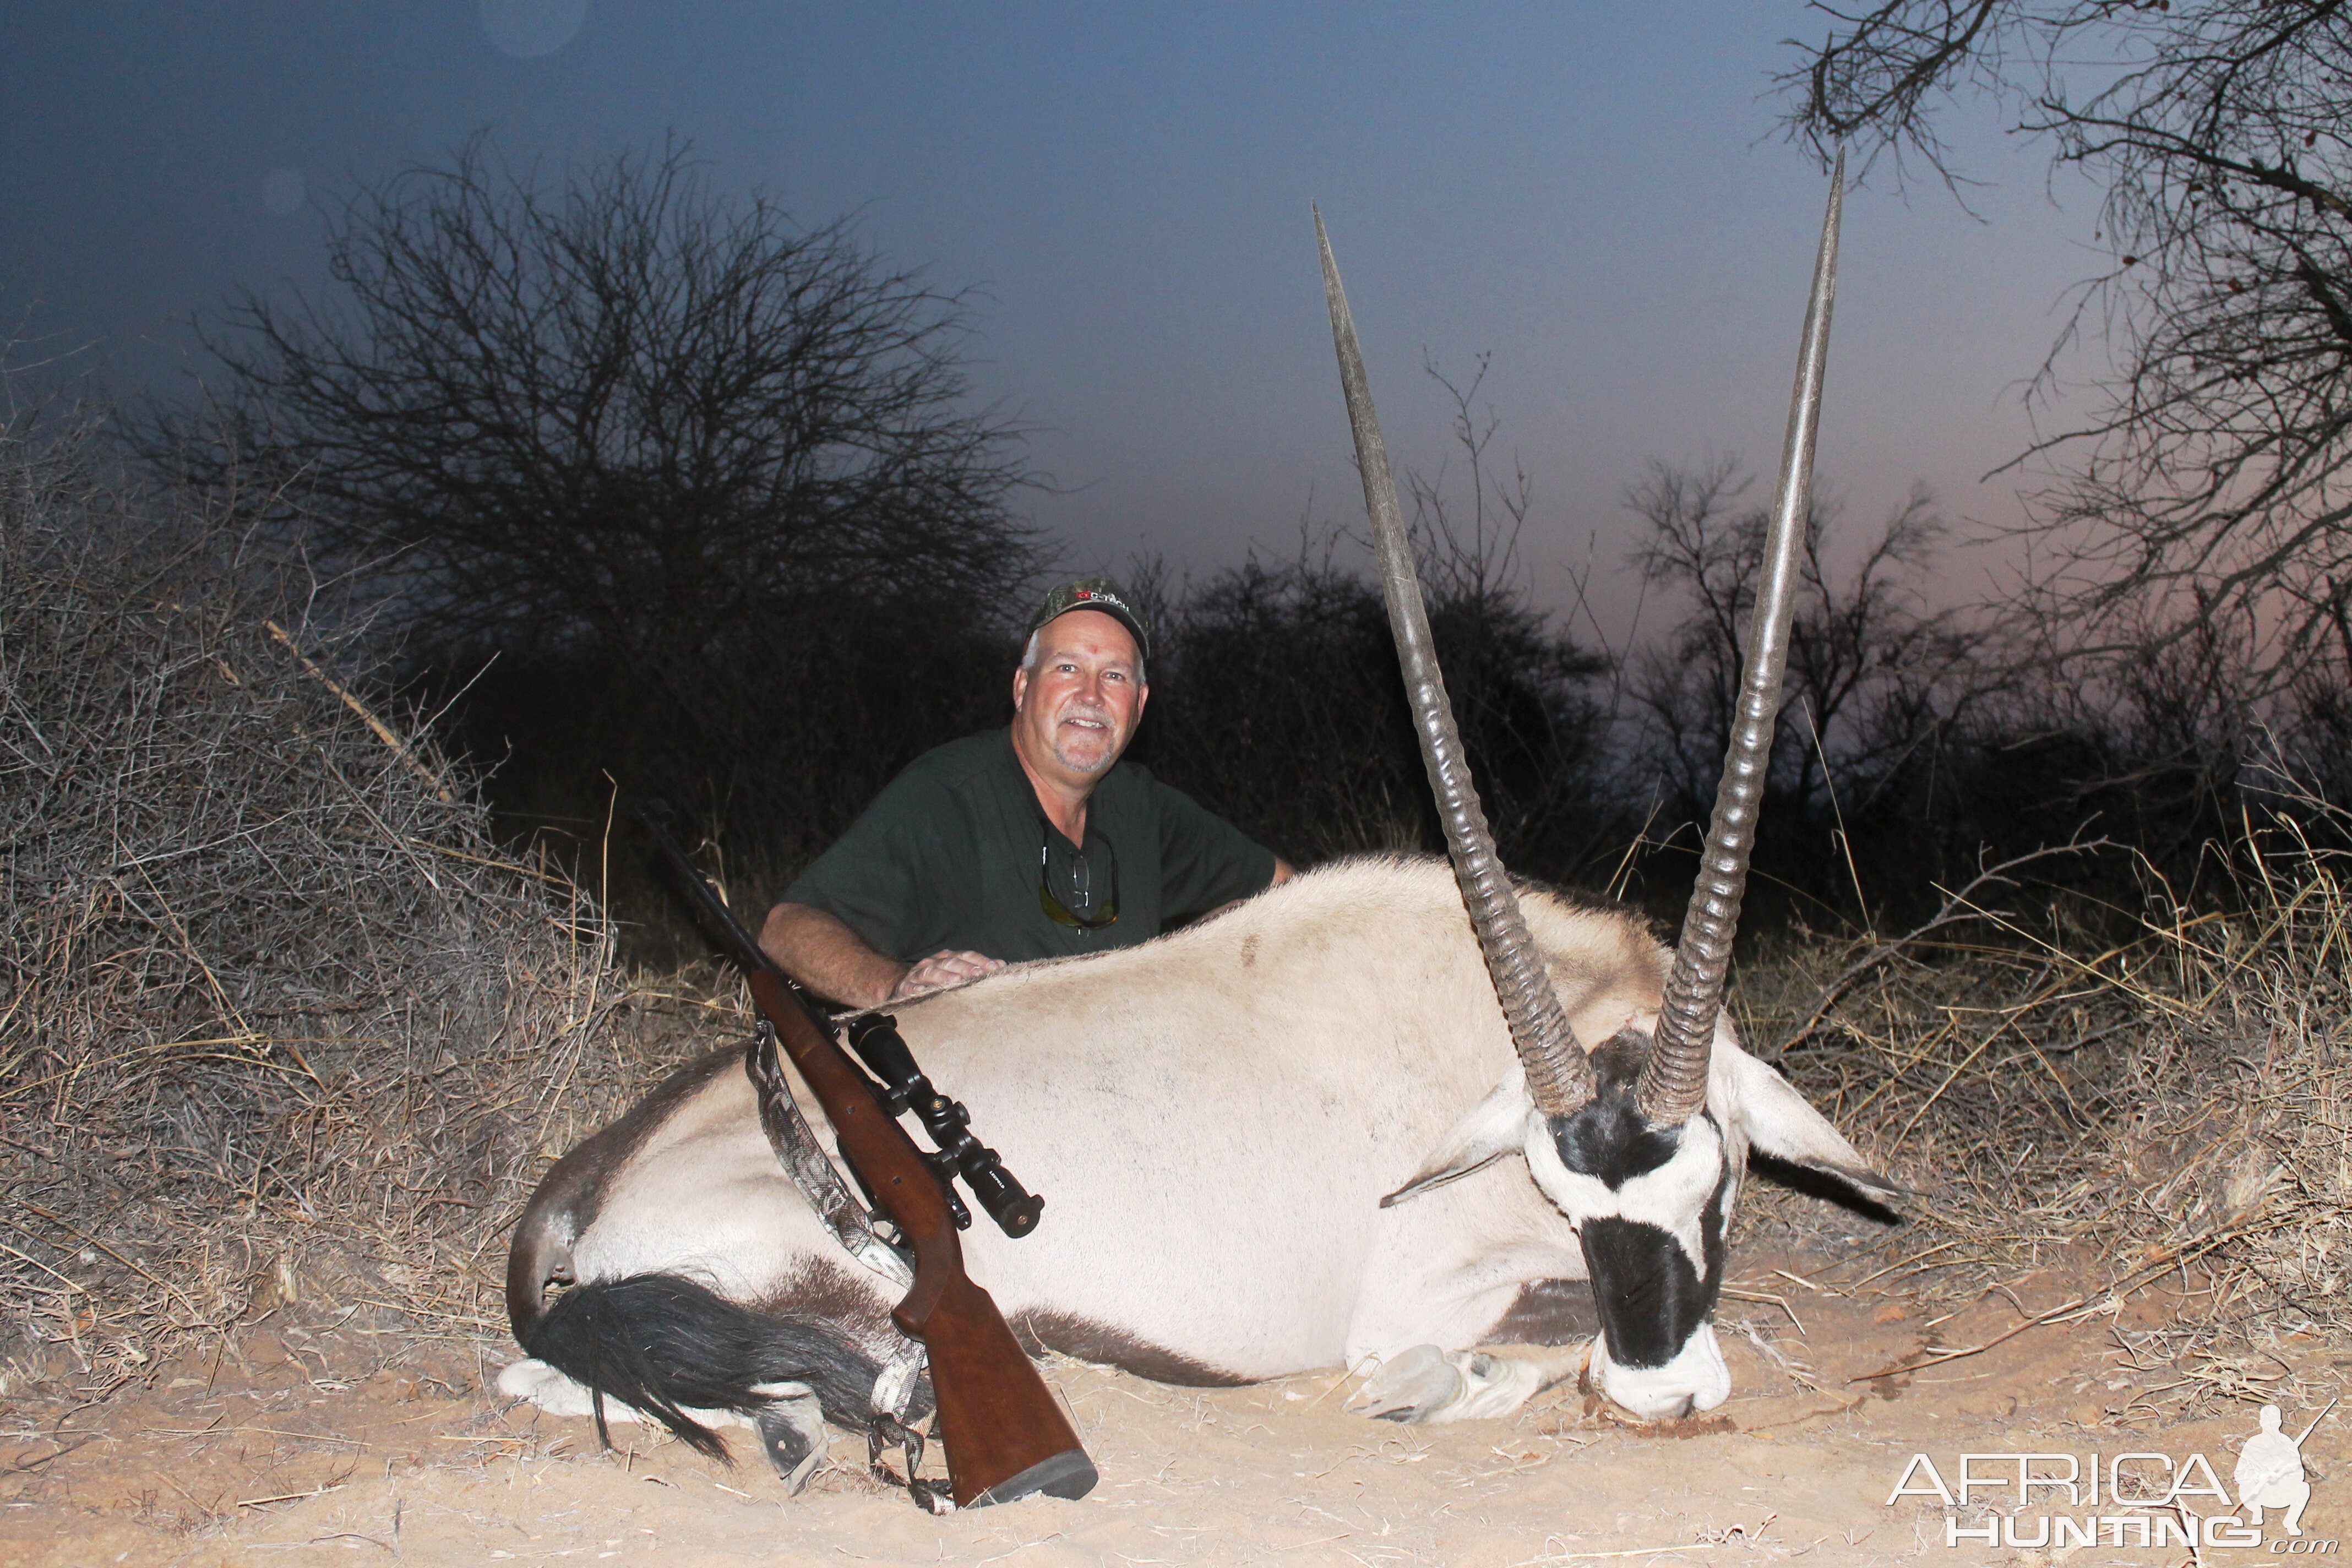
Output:
[[[896,1009],[931,1079],[1051,1197],[1028,1239],[967,1234],[974,1279],[1025,1340],[1195,1385],[1376,1361],[1371,1415],[1503,1415],[1585,1366],[1583,1342],[1562,1345],[1581,1314],[1538,1286],[1588,1279],[1592,1385],[1677,1418],[1729,1392],[1710,1319],[1750,1150],[1893,1192],[1719,1006],[1780,703],[1837,216],[1832,183],[1731,755],[1675,952],[1613,905],[1515,889],[1496,858],[1322,244],[1451,870],[1343,860],[1141,947]],[[866,1427],[877,1378],[908,1363],[898,1293],[779,1168],[741,1051],[720,1051],[548,1175],[508,1272],[532,1359],[501,1387],[583,1413],[602,1375],[607,1399],[701,1441],[701,1422],[757,1418],[779,1467],[804,1472],[821,1420]],[[1498,1338],[1559,1349],[1477,1352]],[[614,1375],[600,1347],[616,1340],[675,1354]],[[903,1401],[903,1375],[884,1385]]]

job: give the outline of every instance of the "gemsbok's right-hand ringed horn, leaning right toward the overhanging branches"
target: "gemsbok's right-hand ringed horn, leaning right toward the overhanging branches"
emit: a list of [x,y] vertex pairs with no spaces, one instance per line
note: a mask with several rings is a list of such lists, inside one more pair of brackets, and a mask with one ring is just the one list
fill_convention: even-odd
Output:
[[1635,1091],[1653,1124],[1679,1126],[1708,1103],[1708,1056],[1715,1018],[1724,1006],[1731,971],[1731,936],[1740,924],[1748,891],[1748,858],[1757,842],[1757,809],[1771,771],[1773,724],[1780,717],[1780,677],[1788,668],[1788,625],[1797,599],[1797,550],[1813,501],[1813,435],[1820,428],[1820,378],[1830,364],[1830,303],[1837,299],[1837,214],[1846,190],[1846,155],[1830,176],[1830,212],[1820,221],[1820,254],[1813,259],[1813,296],[1804,306],[1804,348],[1797,355],[1797,390],[1780,444],[1780,487],[1773,494],[1771,531],[1764,536],[1764,581],[1748,618],[1748,668],[1731,712],[1731,750],[1715,792],[1708,849],[1698,858],[1698,886],[1682,917],[1675,973],[1665,983],[1656,1044]]

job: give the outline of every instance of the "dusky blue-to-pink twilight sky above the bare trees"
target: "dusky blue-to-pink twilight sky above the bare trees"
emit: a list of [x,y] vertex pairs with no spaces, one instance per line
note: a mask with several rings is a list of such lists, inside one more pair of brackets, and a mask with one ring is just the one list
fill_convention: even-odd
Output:
[[[1470,371],[1536,482],[1536,590],[1623,559],[1649,458],[1778,454],[1825,176],[1773,134],[1795,0],[1700,5],[800,5],[12,0],[0,331],[19,364],[179,386],[186,320],[310,284],[318,200],[492,127],[517,165],[677,132],[720,188],[856,209],[978,284],[976,381],[1040,425],[1070,567],[1209,569],[1359,522],[1315,270],[1319,200],[1399,463],[1446,456],[1423,355]],[[1987,186],[1846,202],[1820,473],[1872,524],[1926,480],[1962,527],[2027,437],[2018,381],[2096,270],[2096,200],[1955,122]],[[64,362],[56,355],[66,355]],[[1973,597],[1999,552],[1957,550]],[[1625,635],[1611,574],[1602,625]]]

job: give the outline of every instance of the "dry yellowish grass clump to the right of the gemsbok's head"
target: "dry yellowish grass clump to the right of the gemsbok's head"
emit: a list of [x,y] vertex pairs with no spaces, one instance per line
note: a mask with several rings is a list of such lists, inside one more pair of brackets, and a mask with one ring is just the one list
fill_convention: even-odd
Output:
[[2249,825],[2213,851],[2218,910],[2145,872],[2140,910],[2027,922],[1999,875],[1917,940],[1755,976],[1748,1039],[1929,1190],[1858,1276],[1962,1295],[2058,1267],[2093,1298],[2178,1298],[2169,1326],[2117,1331],[2166,1368],[2143,1399],[2277,1392],[2281,1342],[2352,1345],[2331,1305],[2352,1272],[2352,860],[2298,823],[2347,827],[2317,799]]

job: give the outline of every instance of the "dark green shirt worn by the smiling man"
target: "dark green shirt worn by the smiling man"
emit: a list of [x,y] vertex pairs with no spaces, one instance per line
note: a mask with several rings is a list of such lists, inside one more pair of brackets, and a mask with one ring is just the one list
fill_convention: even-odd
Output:
[[[1134,947],[1171,917],[1275,879],[1275,851],[1141,762],[1115,762],[1087,797],[1087,865],[1094,877],[1117,867],[1115,922],[1094,931],[1054,922],[1037,903],[1042,849],[1056,867],[1075,851],[1047,825],[1011,731],[993,729],[910,762],[783,900],[835,914],[901,964],[943,950],[1018,961]],[[1101,914],[1105,900],[1108,889],[1080,912]]]

